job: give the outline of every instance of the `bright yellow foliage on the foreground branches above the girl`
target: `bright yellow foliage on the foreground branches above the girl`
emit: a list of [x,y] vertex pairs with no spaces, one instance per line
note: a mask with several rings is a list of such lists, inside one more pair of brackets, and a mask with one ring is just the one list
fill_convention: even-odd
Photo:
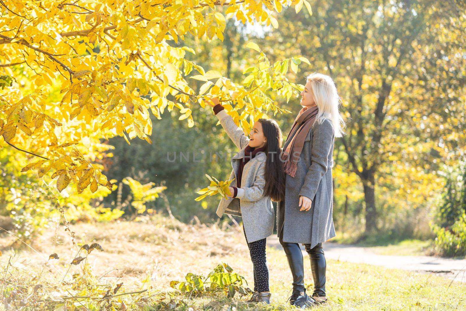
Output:
[[[61,191],[67,187],[67,183],[76,183],[78,191],[90,185],[91,191],[94,192],[97,191],[98,185],[107,186],[108,181],[100,180],[99,183],[98,169],[90,166],[82,155],[78,157],[77,153],[74,154],[76,158],[72,161],[79,163],[73,165],[63,159],[55,160],[69,153],[64,149],[67,142],[79,140],[87,149],[86,158],[90,159],[101,159],[99,157],[101,153],[94,147],[99,138],[107,138],[109,135],[123,136],[128,144],[129,138],[135,137],[151,143],[149,136],[152,132],[152,124],[147,119],[149,108],[152,114],[160,119],[164,109],[171,111],[174,107],[181,107],[179,119],[187,120],[188,126],[192,127],[194,109],[190,104],[198,102],[198,99],[202,101],[200,97],[209,92],[222,99],[232,98],[232,106],[228,108],[232,115],[235,113],[238,115],[237,111],[241,109],[254,116],[256,114],[251,112],[252,109],[265,111],[264,104],[270,99],[264,91],[268,89],[267,83],[270,82],[267,81],[271,79],[266,75],[261,76],[262,72],[251,78],[252,81],[260,84],[257,85],[256,90],[247,90],[241,83],[232,83],[224,78],[220,70],[220,72],[214,70],[206,72],[201,66],[184,59],[185,52],[195,54],[197,49],[168,46],[164,40],[171,38],[185,40],[183,37],[185,34],[198,38],[207,35],[209,39],[216,37],[223,39],[223,31],[226,28],[224,14],[238,14],[238,19],[243,22],[264,22],[269,17],[268,21],[277,27],[275,18],[267,11],[267,8],[273,10],[271,6],[274,2],[247,3],[249,10],[242,4],[230,2],[233,4],[226,7],[226,12],[223,9],[219,12],[219,6],[216,6],[213,0],[206,1],[212,7],[212,10],[209,9],[207,12],[205,7],[199,5],[199,0],[181,2],[164,2],[164,14],[162,14],[162,11],[158,11],[160,6],[152,6],[153,3],[149,2],[136,1],[122,10],[119,6],[106,6],[97,1],[91,6],[95,13],[74,16],[69,16],[72,14],[61,10],[58,7],[59,2],[53,2],[46,9],[36,7],[30,11],[33,20],[30,23],[24,21],[21,28],[18,28],[22,20],[19,16],[14,17],[13,23],[6,21],[5,25],[14,28],[12,34],[16,34],[17,38],[24,38],[34,47],[50,53],[49,55],[58,55],[56,58],[62,62],[60,64],[50,57],[41,55],[41,52],[19,44],[20,41],[10,46],[14,46],[16,52],[21,50],[21,53],[13,53],[13,48],[7,50],[7,53],[0,50],[3,59],[11,58],[12,63],[26,60],[28,64],[32,63],[31,67],[34,69],[40,69],[34,76],[31,67],[21,65],[26,73],[18,81],[21,81],[19,92],[27,89],[31,89],[27,91],[32,94],[43,92],[42,100],[25,100],[21,103],[24,107],[13,107],[14,104],[19,103],[21,97],[18,98],[13,94],[14,92],[11,92],[12,95],[6,93],[7,95],[0,97],[2,101],[0,114],[8,115],[5,113],[7,109],[7,112],[11,112],[11,116],[1,120],[3,121],[1,135],[5,140],[13,139],[15,135],[27,138],[31,141],[31,150],[45,152],[44,156],[53,159],[39,164],[38,167],[35,165],[29,167],[34,166],[35,169],[40,170],[41,176],[49,173],[50,166],[55,168],[56,171],[50,174],[54,173],[54,178],[60,180],[58,188]],[[224,3],[225,0],[220,0],[221,5]],[[306,2],[303,3],[306,5]],[[281,1],[276,2],[275,7],[281,10],[283,4],[284,2]],[[10,13],[8,16],[14,15]],[[138,14],[141,14],[144,20]],[[37,28],[38,26],[40,28]],[[107,30],[104,33],[105,28]],[[248,47],[260,52],[257,44],[249,44]],[[27,59],[22,58],[23,52]],[[138,55],[148,65],[139,59]],[[260,55],[261,59],[264,57]],[[184,75],[193,74],[193,69],[196,69],[199,73],[196,73],[193,79],[204,81],[199,84],[198,94],[192,90],[192,85],[183,79],[184,75],[181,73],[183,63]],[[69,81],[69,71],[64,67],[74,72],[72,81]],[[266,65],[261,68],[264,72],[268,71]],[[159,81],[155,75],[162,81]],[[274,76],[274,81],[280,79],[275,78]],[[25,88],[22,86],[22,81],[26,83]],[[61,85],[58,90],[61,98],[48,96],[52,91],[55,92],[48,84]],[[194,97],[186,96],[175,88]],[[151,96],[144,97],[146,95]],[[32,95],[27,97],[29,96]],[[61,102],[58,104],[57,100]],[[240,122],[239,119],[236,121]],[[64,124],[62,129],[56,128],[62,124]],[[17,128],[19,131],[16,131]],[[64,143],[60,146],[58,146],[58,135],[60,135],[58,137],[60,143]],[[34,139],[30,139],[30,136]],[[92,173],[89,173],[89,170],[92,170]]]

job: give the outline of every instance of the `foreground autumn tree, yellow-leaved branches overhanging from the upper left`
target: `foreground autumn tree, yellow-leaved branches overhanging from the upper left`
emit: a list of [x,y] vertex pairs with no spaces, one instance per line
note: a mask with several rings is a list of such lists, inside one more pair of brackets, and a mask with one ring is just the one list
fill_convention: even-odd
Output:
[[[235,83],[186,59],[185,36],[223,40],[226,19],[278,27],[271,14],[307,0],[1,1],[0,134],[4,143],[41,158],[23,168],[52,173],[62,191],[99,185],[112,189],[96,159],[122,136],[151,143],[149,111],[168,109],[194,124],[192,106],[219,97],[246,131],[260,117],[287,112],[267,96],[289,99],[302,86],[286,78],[291,57],[271,64],[257,45],[258,62]],[[308,62],[294,57],[295,62]],[[186,79],[203,81],[199,90]],[[211,81],[213,80],[213,82]],[[52,90],[60,98],[51,98]],[[51,171],[52,170],[52,171]]]

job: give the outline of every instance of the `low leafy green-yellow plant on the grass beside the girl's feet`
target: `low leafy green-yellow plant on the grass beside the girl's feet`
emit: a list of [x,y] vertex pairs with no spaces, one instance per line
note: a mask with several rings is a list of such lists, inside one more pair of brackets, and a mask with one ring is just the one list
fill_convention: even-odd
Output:
[[198,294],[215,294],[223,292],[227,297],[233,297],[236,293],[245,296],[251,293],[251,289],[243,287],[247,281],[244,276],[233,272],[228,263],[219,264],[207,276],[188,273],[186,281],[171,281],[170,287],[189,294],[191,297]]

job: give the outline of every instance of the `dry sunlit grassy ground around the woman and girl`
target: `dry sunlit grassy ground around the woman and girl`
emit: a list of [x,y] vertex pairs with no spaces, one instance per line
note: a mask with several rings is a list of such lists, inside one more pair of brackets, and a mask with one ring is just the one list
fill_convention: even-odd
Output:
[[[76,242],[97,242],[104,249],[103,252],[93,251],[87,259],[97,283],[113,287],[123,282],[119,292],[148,289],[142,294],[131,295],[126,302],[126,310],[294,309],[287,304],[291,294],[291,273],[284,254],[277,249],[267,249],[273,293],[270,306],[248,304],[247,297],[229,299],[215,295],[189,298],[176,293],[167,294],[173,291],[170,281],[182,281],[189,272],[206,275],[221,262],[229,263],[234,271],[245,276],[252,288],[252,263],[239,228],[224,230],[214,225],[189,226],[156,216],[139,222],[78,224],[72,226],[72,231],[76,233]],[[50,295],[54,291],[64,291],[66,286],[60,285],[60,281],[65,273],[68,275],[65,280],[70,280],[73,273],[82,270],[80,265],[69,265],[76,250],[68,232],[62,227],[56,231],[51,229],[34,241],[31,246],[37,253],[27,247],[15,246],[12,250],[9,246],[13,242],[13,237],[0,235],[0,250],[3,252],[0,275],[5,275],[12,284],[27,284],[45,269],[40,280],[44,292]],[[52,253],[57,253],[60,259],[47,262]],[[329,303],[315,310],[466,310],[466,285],[462,283],[366,264],[329,260],[327,265]],[[7,266],[8,273],[5,272]],[[305,283],[312,292],[308,260],[305,260],[305,271]],[[142,296],[144,299],[139,299]],[[139,302],[139,305],[131,302]],[[114,307],[119,310],[117,305]],[[76,310],[86,309],[78,305]]]

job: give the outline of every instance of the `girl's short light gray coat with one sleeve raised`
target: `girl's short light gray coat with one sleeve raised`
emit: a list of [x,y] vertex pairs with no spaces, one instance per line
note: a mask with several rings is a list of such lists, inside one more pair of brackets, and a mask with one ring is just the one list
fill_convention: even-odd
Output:
[[[240,152],[231,158],[233,171],[228,180],[235,179],[231,187],[236,185],[236,174],[240,161],[244,157],[244,149],[249,143],[249,138],[233,121],[233,118],[225,110],[219,111],[216,116],[220,120],[228,136],[240,149]],[[265,162],[267,156],[259,152],[243,168],[241,176],[241,188],[238,188],[236,198],[222,198],[217,208],[217,215],[224,213],[243,217],[243,226],[246,231],[247,242],[254,242],[270,236],[274,232],[274,207],[270,197],[264,197],[265,187]]]

